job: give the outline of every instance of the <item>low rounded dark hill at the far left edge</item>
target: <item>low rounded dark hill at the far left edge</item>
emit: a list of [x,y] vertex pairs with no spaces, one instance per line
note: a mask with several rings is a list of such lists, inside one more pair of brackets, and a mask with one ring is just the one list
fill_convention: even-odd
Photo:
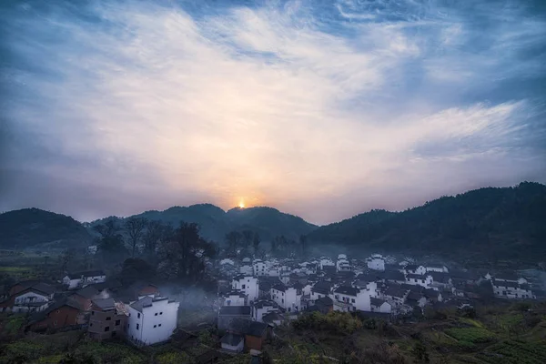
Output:
[[25,208],[0,214],[0,248],[86,246],[91,236],[72,217]]

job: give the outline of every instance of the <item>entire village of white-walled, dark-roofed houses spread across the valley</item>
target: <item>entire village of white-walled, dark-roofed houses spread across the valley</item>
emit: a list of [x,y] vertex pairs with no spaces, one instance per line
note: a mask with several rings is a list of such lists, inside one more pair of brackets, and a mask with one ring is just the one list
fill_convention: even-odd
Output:
[[[210,309],[223,335],[199,362],[249,352],[259,356],[275,329],[309,312],[349,312],[392,319],[426,308],[473,309],[483,296],[528,300],[543,293],[514,271],[479,271],[372,254],[319,258],[218,258],[207,261],[217,281]],[[0,311],[25,315],[25,331],[84,330],[94,341],[125,340],[137,348],[176,337],[181,303],[157,285],[122,286],[103,270],[66,273],[52,284],[21,281],[9,288]]]

